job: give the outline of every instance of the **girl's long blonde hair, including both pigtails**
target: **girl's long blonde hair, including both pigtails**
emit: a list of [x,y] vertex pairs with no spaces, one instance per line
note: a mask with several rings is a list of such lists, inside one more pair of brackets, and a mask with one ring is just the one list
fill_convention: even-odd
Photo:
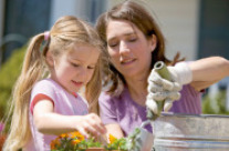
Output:
[[[28,47],[21,74],[15,83],[10,112],[12,113],[11,128],[4,143],[4,151],[15,151],[25,145],[31,138],[29,123],[29,103],[31,90],[35,82],[49,76],[45,62],[48,51],[53,57],[59,57],[69,51],[71,43],[90,44],[103,51],[102,42],[97,32],[89,23],[75,17],[60,18],[50,30],[49,40],[44,40],[44,33],[34,36]],[[43,44],[43,41],[46,44]],[[90,111],[97,105],[97,99],[102,88],[101,67],[103,52],[98,58],[91,81],[85,87],[85,98],[90,104]],[[8,117],[9,119],[9,117]]]

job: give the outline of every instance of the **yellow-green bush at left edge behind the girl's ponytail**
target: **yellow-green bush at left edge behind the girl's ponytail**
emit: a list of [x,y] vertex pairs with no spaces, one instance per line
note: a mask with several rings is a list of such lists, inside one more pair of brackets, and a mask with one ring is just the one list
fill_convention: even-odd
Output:
[[0,69],[0,118],[2,119],[7,111],[8,101],[11,97],[11,91],[17,81],[23,62],[25,47],[13,51],[7,62]]

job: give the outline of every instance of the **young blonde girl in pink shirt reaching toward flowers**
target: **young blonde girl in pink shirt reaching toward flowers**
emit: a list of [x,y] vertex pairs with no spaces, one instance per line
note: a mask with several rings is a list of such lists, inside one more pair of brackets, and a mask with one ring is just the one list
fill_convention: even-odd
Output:
[[[70,16],[32,38],[13,92],[4,151],[46,151],[58,134],[71,131],[105,133],[100,118],[87,114],[101,91],[102,50],[95,30]],[[76,93],[83,85],[89,108]]]

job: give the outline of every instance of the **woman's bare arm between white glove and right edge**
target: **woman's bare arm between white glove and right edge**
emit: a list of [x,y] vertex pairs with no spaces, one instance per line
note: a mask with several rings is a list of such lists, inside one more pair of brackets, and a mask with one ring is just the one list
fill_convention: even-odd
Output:
[[221,57],[210,57],[189,64],[192,71],[191,85],[200,91],[229,76],[229,61]]

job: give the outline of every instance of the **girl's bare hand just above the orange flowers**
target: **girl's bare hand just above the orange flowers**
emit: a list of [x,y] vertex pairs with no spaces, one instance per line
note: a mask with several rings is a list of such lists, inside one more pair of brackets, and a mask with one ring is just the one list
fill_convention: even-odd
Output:
[[89,138],[91,134],[97,138],[101,134],[106,133],[105,125],[95,113],[83,115],[76,127],[79,132],[81,132],[85,138]]

